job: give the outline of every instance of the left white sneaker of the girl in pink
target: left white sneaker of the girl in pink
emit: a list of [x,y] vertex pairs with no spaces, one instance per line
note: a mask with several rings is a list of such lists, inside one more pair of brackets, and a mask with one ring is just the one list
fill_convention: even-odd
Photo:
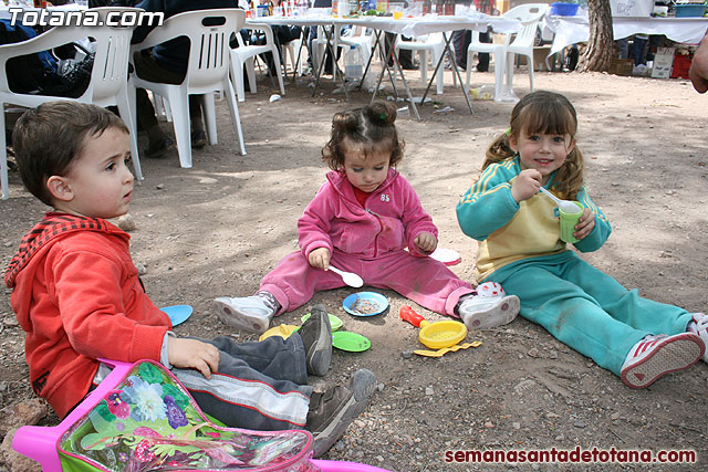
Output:
[[227,325],[261,334],[270,326],[275,307],[270,300],[260,295],[230,297],[221,296],[214,301],[217,315]]

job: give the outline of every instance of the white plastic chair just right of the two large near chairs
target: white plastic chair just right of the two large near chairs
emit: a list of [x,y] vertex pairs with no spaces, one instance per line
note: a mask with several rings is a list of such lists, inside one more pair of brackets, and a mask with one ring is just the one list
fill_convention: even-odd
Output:
[[[251,30],[260,30],[266,34],[266,44],[244,44],[243,39],[237,33],[239,46],[231,49],[231,77],[236,84],[236,94],[239,102],[246,99],[246,86],[243,84],[243,67],[248,74],[249,88],[251,93],[256,93],[256,56],[270,52],[273,55],[275,64],[275,74],[278,74],[278,84],[280,85],[281,95],[285,95],[285,85],[283,84],[283,73],[280,66],[280,52],[278,44],[273,39],[273,30],[266,23],[249,23]],[[238,31],[238,30],[237,30]],[[294,61],[293,61],[294,63]],[[273,72],[273,71],[271,71]]]

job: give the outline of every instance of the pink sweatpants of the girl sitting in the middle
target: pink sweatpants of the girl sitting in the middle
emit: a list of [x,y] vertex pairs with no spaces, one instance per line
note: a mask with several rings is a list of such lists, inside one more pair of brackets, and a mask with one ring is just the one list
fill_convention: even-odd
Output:
[[[416,258],[407,251],[362,261],[334,250],[330,263],[361,275],[365,285],[394,290],[420,306],[455,317],[458,317],[455,306],[460,296],[473,291],[444,263],[430,258]],[[311,266],[306,258],[296,251],[283,258],[263,277],[260,290],[275,296],[281,305],[277,314],[280,315],[304,305],[315,292],[342,286],[345,284],[340,275]]]

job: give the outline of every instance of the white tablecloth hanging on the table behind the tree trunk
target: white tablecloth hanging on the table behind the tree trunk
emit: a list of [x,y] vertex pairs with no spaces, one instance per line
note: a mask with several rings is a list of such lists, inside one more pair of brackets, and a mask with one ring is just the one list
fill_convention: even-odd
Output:
[[[621,40],[637,33],[664,34],[671,41],[697,44],[708,30],[708,18],[637,18],[614,17],[612,19],[614,39]],[[565,46],[586,42],[590,38],[587,17],[545,15],[543,28],[555,33],[551,53],[555,54]]]

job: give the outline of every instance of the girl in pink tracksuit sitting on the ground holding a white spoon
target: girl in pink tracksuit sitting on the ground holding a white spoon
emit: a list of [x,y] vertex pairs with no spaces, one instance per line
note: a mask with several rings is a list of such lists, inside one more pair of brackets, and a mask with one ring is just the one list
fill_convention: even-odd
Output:
[[264,332],[273,316],[304,305],[315,292],[345,285],[330,264],[433,312],[461,317],[470,328],[514,318],[518,297],[473,296],[469,283],[428,256],[437,247],[437,228],[394,168],[403,158],[395,119],[388,102],[334,115],[322,150],[332,171],[298,220],[300,251],[280,261],[256,295],[217,298],[225,323]]

